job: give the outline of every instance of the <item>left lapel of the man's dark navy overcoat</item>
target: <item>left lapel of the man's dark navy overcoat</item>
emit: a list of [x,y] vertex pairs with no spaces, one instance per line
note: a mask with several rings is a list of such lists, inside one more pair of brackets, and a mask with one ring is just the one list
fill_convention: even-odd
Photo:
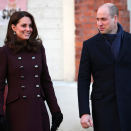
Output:
[[104,40],[104,38],[101,36],[100,33],[98,34],[97,41],[99,48],[105,53],[106,56],[108,56],[115,63],[116,62],[115,58],[112,52],[110,51],[109,47],[107,46],[106,41]]

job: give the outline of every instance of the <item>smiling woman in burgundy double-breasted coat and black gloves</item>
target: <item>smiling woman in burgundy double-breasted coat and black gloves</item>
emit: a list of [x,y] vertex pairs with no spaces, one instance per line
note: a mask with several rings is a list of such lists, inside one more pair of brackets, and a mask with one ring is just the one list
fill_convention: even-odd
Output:
[[9,131],[50,131],[44,100],[52,114],[51,131],[56,131],[63,116],[34,18],[25,11],[11,16],[5,46],[0,48],[0,131],[7,127],[3,111],[5,78],[8,82],[5,116]]

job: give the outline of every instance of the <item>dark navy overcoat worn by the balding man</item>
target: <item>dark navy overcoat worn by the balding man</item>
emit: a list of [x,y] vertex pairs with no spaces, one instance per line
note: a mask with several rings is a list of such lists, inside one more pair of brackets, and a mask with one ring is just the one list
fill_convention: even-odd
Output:
[[[93,76],[92,93],[89,87]],[[84,41],[78,74],[80,116],[90,114],[94,131],[131,131],[131,35],[123,32],[120,52],[114,59],[100,33]]]

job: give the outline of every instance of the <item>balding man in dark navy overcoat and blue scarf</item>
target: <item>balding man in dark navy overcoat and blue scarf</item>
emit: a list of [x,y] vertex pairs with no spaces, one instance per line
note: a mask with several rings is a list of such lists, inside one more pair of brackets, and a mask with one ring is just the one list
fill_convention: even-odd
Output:
[[[84,41],[78,74],[81,125],[94,131],[131,131],[131,35],[118,23],[118,9],[97,11],[99,33]],[[92,116],[89,109],[91,74]]]

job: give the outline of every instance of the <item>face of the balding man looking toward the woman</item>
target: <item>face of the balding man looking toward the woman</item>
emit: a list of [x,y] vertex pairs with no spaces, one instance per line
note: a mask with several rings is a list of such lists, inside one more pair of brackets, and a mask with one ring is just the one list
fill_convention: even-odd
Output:
[[115,34],[116,16],[111,18],[108,7],[101,7],[97,11],[97,25],[101,34]]

